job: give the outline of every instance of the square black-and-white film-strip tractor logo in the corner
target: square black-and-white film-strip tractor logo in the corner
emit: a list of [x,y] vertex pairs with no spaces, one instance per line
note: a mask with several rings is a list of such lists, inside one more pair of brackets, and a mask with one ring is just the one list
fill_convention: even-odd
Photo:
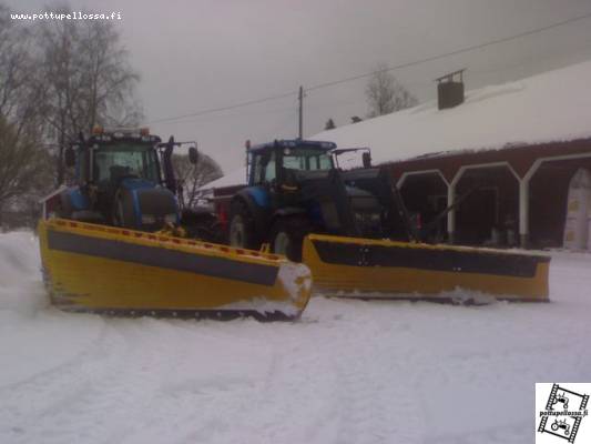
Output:
[[590,426],[585,424],[584,430],[581,424],[589,415],[587,393],[590,389],[591,384],[536,384],[537,444],[560,443],[562,440],[575,443],[578,435],[588,442],[583,435],[591,436],[591,420],[587,420]]

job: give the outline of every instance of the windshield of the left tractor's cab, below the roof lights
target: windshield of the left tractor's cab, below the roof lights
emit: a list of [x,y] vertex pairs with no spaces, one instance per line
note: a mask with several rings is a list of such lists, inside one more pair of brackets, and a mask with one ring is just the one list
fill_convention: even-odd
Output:
[[160,182],[156,151],[146,144],[102,145],[94,152],[93,176],[96,182],[113,182],[135,176]]

